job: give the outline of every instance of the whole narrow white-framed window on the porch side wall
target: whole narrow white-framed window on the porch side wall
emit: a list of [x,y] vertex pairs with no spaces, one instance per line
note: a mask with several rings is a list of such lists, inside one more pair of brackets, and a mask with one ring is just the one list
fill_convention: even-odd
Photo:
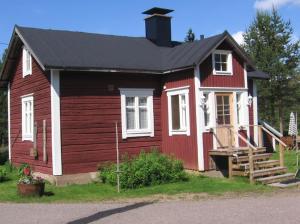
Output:
[[170,136],[190,135],[188,93],[187,87],[179,90],[167,90]]

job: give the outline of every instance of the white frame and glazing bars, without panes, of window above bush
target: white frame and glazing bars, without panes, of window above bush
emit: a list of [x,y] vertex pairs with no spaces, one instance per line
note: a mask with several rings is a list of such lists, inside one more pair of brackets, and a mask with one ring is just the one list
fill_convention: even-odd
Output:
[[[122,121],[122,138],[130,137],[154,137],[154,114],[153,114],[153,91],[154,89],[133,89],[133,88],[120,88],[121,95],[121,121]],[[126,97],[135,97],[135,123],[139,125],[139,112],[138,112],[138,98],[147,97],[147,115],[148,115],[148,128],[147,129],[130,129],[127,130],[126,118]]]

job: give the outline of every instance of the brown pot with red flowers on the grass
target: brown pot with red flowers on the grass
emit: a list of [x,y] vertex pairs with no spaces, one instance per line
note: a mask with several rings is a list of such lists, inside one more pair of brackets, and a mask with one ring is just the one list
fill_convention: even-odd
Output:
[[45,190],[45,181],[41,177],[33,177],[32,170],[28,164],[19,168],[18,193],[21,196],[41,197]]

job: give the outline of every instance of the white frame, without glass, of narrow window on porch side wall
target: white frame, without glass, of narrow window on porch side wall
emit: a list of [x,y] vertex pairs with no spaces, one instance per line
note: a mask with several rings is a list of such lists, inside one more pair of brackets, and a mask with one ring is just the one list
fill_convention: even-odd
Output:
[[[190,105],[189,105],[189,86],[167,89],[167,97],[168,97],[168,122],[169,122],[169,136],[172,135],[190,135]],[[179,130],[173,130],[172,127],[172,105],[171,105],[171,97],[176,95],[184,95],[185,96],[185,110],[186,110],[186,121],[183,121],[182,109],[181,109],[181,101],[179,100],[179,116],[180,116],[180,127],[185,123],[185,128]]]

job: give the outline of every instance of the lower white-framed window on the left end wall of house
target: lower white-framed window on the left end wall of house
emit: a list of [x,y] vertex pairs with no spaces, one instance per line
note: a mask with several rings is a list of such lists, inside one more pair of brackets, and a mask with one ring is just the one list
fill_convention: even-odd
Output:
[[33,141],[33,96],[22,97],[22,140]]

